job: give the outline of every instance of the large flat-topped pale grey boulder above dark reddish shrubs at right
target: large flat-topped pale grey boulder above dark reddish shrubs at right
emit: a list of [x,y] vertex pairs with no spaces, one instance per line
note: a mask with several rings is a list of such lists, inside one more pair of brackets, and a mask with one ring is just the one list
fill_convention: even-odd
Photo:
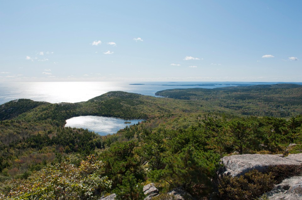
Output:
[[300,165],[302,154],[291,154],[284,158],[262,154],[231,155],[221,158],[221,163],[224,167],[219,171],[220,175],[240,176],[253,169],[266,171],[269,166]]

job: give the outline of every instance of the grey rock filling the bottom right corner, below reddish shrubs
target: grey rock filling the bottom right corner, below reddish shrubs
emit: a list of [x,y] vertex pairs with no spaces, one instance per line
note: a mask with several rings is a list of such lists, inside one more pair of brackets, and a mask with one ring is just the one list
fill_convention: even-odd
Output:
[[302,176],[293,176],[284,179],[270,192],[266,193],[271,200],[301,200],[302,199]]

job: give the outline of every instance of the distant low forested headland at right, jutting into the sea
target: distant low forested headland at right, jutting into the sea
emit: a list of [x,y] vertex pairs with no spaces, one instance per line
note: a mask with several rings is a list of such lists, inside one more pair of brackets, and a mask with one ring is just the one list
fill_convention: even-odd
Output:
[[297,84],[170,89],[155,95],[227,108],[243,115],[288,117],[302,112],[302,85]]

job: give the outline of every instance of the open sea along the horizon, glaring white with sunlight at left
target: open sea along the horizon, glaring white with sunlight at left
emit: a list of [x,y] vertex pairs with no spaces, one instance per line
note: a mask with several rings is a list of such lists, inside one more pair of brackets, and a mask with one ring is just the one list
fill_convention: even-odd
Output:
[[110,91],[154,96],[157,91],[174,88],[215,88],[274,83],[277,82],[9,82],[0,83],[0,104],[20,98],[49,103],[75,103],[87,101]]

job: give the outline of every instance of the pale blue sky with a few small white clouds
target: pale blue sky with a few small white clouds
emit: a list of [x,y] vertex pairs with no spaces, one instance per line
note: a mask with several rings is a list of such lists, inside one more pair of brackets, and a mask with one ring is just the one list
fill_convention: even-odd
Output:
[[0,0],[0,82],[302,82],[302,1]]

